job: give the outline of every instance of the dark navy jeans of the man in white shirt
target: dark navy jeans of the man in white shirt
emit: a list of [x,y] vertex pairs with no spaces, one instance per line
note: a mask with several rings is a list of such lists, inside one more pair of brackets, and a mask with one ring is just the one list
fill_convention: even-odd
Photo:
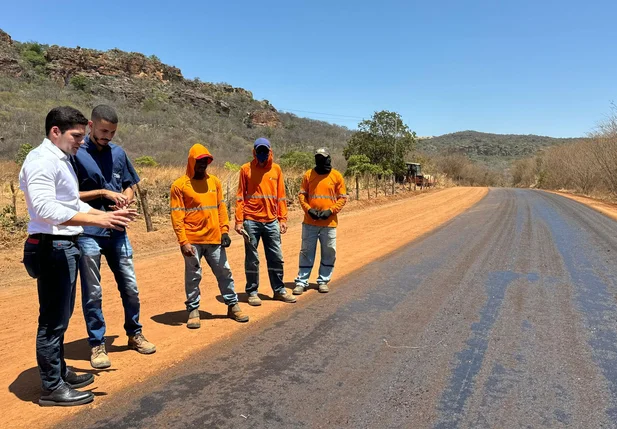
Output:
[[75,307],[75,284],[79,247],[67,240],[40,244],[39,326],[36,335],[36,361],[42,388],[52,391],[64,384],[64,333]]

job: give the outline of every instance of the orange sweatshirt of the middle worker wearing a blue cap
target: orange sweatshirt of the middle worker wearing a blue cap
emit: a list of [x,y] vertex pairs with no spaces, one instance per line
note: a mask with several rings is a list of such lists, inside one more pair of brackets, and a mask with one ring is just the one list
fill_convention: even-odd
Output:
[[236,197],[236,223],[245,220],[287,222],[283,171],[272,161],[272,150],[263,167],[259,166],[253,150],[253,160],[240,168]]

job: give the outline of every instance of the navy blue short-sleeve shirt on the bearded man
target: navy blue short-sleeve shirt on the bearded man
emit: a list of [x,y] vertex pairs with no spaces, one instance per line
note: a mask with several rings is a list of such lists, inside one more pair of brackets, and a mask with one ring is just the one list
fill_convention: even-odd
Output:
[[[84,144],[73,157],[79,191],[94,191],[108,189],[122,193],[125,189],[139,183],[139,176],[129,161],[126,152],[120,146],[109,143],[99,151],[96,145],[86,136]],[[110,211],[113,201],[107,198],[95,198],[88,201],[93,208]],[[84,234],[110,237],[116,234],[126,234],[126,231],[99,228],[97,226],[84,227]]]

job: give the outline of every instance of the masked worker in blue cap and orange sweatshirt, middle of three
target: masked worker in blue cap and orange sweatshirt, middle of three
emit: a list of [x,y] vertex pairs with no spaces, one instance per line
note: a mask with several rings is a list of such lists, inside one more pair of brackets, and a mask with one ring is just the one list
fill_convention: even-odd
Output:
[[283,283],[283,251],[281,234],[287,232],[287,199],[283,172],[272,161],[272,148],[266,138],[253,145],[253,161],[240,169],[236,202],[236,227],[244,236],[244,271],[248,303],[261,305],[259,287],[259,254],[257,246],[263,240],[270,286],[274,299],[293,303],[296,298],[286,293]]

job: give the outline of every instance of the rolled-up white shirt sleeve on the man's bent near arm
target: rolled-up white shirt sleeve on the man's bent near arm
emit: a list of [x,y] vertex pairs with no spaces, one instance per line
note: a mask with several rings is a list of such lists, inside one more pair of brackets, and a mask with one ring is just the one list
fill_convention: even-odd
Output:
[[32,210],[43,222],[61,225],[77,214],[76,210],[64,206],[56,199],[57,168],[53,162],[46,159],[32,160],[24,166],[24,174]]

